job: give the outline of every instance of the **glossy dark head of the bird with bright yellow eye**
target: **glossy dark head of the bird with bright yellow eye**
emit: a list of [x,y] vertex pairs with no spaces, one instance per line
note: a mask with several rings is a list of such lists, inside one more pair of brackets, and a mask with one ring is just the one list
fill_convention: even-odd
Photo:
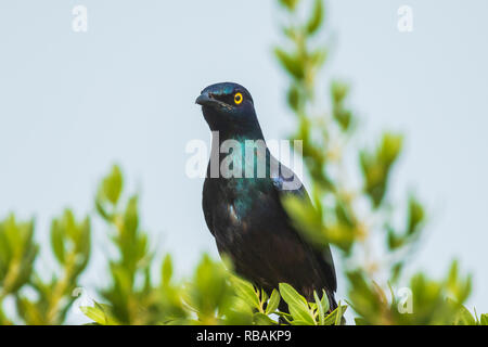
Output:
[[251,93],[244,87],[223,82],[205,88],[195,103],[202,105],[205,120],[213,131],[234,134],[259,131]]

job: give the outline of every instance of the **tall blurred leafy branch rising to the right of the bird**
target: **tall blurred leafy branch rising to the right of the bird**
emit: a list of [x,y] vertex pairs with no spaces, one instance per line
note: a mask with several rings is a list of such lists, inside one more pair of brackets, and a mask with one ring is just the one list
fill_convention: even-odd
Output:
[[[284,43],[274,53],[288,76],[287,103],[298,121],[292,139],[303,141],[314,207],[301,205],[293,197],[287,197],[284,205],[306,237],[341,250],[349,287],[347,301],[359,316],[357,323],[480,324],[484,316],[475,319],[462,305],[471,292],[471,277],[463,278],[455,261],[447,280],[433,281],[423,273],[414,274],[409,281],[412,310],[399,311],[399,298],[391,285],[402,279],[426,221],[424,207],[410,193],[406,198],[404,226],[394,222],[397,210],[389,203],[388,188],[403,147],[403,136],[385,132],[373,150],[351,147],[350,140],[360,121],[347,106],[349,87],[332,80],[330,94],[320,94],[320,73],[328,52],[317,39],[325,18],[322,0],[313,1],[307,18],[300,16],[299,10],[306,1],[279,2],[286,24],[282,28]],[[323,106],[326,98],[330,110]],[[346,154],[351,151],[356,152],[356,166],[347,162]],[[362,187],[355,187],[350,178],[359,178]],[[377,246],[381,240],[383,247]],[[385,277],[387,280],[377,284]]]

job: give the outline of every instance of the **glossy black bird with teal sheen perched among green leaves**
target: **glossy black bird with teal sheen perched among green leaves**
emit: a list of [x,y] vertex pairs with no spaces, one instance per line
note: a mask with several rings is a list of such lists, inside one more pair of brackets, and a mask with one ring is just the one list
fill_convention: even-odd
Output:
[[[231,82],[211,85],[195,102],[202,105],[213,131],[214,159],[226,140],[233,140],[243,149],[249,140],[265,143],[253,98],[244,87]],[[285,189],[286,183],[296,182],[297,178],[270,154],[266,143],[264,154],[256,151],[258,162],[266,158],[265,177],[256,175],[258,165],[252,166],[253,178],[244,174],[226,176],[219,171],[226,167],[222,165],[226,155],[214,164],[210,158],[208,164],[203,210],[218,250],[232,260],[237,274],[268,293],[285,282],[313,300],[313,291],[321,296],[324,290],[332,311],[337,307],[334,298],[337,282],[331,250],[329,246],[318,249],[309,243],[293,224],[281,201],[286,194],[294,194],[304,204],[311,204],[308,194],[299,180],[293,189]],[[244,150],[229,152],[236,159],[229,165],[230,170],[237,164],[248,169],[252,163],[243,155]],[[273,164],[278,164],[278,172],[273,171]]]

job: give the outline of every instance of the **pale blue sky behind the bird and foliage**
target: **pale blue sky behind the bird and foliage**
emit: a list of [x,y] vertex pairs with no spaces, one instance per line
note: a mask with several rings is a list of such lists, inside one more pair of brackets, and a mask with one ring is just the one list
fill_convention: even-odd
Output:
[[[359,143],[373,144],[384,129],[407,134],[394,196],[412,188],[431,211],[413,269],[440,275],[459,257],[475,274],[470,304],[488,311],[488,2],[329,3],[325,74],[352,85],[365,129]],[[88,9],[86,34],[72,30],[76,4]],[[397,30],[401,4],[413,9],[413,33]],[[50,218],[64,206],[92,211],[97,183],[117,162],[129,189],[141,191],[143,226],[180,273],[202,252],[217,255],[203,182],[184,175],[187,142],[209,139],[194,99],[209,83],[240,82],[265,134],[286,136],[286,78],[271,54],[278,23],[274,1],[262,0],[1,1],[0,216],[36,216],[47,246]],[[105,229],[94,228],[82,281],[91,288],[105,277]]]

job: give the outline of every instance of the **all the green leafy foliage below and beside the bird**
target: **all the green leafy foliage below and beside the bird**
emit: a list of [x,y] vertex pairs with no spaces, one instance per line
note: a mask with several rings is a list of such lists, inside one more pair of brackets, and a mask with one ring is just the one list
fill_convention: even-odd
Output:
[[[338,250],[337,269],[345,275],[347,298],[329,312],[323,293],[307,303],[282,283],[268,296],[233,274],[229,261],[207,255],[190,279],[176,280],[171,257],[157,259],[140,227],[138,196],[121,198],[124,177],[114,166],[100,183],[94,203],[98,216],[92,218],[104,220],[107,242],[118,254],[107,259],[111,281],[99,290],[100,303],[81,310],[93,324],[332,325],[344,323],[344,312],[352,309],[355,322],[348,323],[487,325],[487,314],[472,313],[463,306],[472,281],[457,261],[444,279],[406,274],[427,216],[413,193],[402,204],[389,201],[390,176],[403,137],[385,132],[375,144],[352,146],[360,123],[348,107],[349,86],[320,75],[328,56],[324,40],[318,39],[326,33],[323,1],[279,3],[283,42],[274,54],[288,76],[285,95],[297,120],[290,138],[303,141],[314,206],[303,206],[293,197],[283,203],[305,237]],[[324,83],[329,94],[321,93]],[[361,183],[356,184],[352,177]],[[402,222],[397,216],[402,216]],[[67,209],[53,219],[51,250],[59,270],[48,281],[33,271],[39,250],[34,232],[34,220],[18,221],[10,215],[0,221],[1,324],[62,324],[80,288],[79,278],[90,259],[90,218],[77,220]],[[15,303],[14,314],[3,311],[7,298]],[[288,312],[279,310],[281,300]]]

